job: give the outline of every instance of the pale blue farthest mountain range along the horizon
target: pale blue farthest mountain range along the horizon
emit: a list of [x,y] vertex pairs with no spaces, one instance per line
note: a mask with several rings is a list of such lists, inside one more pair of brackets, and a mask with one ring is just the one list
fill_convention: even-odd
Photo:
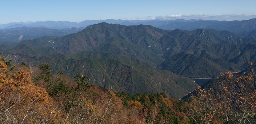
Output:
[[15,22],[0,25],[0,29],[10,29],[17,27],[47,27],[51,29],[64,29],[64,28],[80,28],[88,25],[107,22],[111,24],[121,25],[152,25],[160,29],[175,30],[175,29],[216,29],[219,31],[227,30],[233,33],[240,33],[243,31],[252,31],[256,29],[256,19],[249,19],[243,21],[216,21],[216,20],[85,20],[82,22],[70,21],[37,21],[37,22]]

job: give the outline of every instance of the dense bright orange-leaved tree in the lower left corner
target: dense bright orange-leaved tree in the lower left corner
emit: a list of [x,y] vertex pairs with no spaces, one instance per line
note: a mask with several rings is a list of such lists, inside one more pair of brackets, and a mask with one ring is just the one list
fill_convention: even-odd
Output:
[[31,82],[28,70],[12,74],[0,61],[0,123],[57,123],[53,99]]

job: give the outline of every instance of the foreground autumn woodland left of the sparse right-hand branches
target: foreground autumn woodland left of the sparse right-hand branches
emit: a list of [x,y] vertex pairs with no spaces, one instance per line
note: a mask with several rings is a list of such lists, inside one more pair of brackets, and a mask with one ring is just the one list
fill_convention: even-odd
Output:
[[79,74],[73,79],[62,72],[52,75],[47,64],[33,73],[32,82],[34,70],[26,70],[25,64],[14,71],[0,64],[1,123],[168,123],[178,113],[164,94],[107,90]]

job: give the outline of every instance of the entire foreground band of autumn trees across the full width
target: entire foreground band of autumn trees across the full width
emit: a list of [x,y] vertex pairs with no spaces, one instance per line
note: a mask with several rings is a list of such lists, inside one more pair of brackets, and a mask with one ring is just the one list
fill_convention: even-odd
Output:
[[[51,74],[39,67],[10,65],[0,57],[0,123],[255,123],[256,74],[224,72],[216,87],[198,87],[191,99],[164,93],[117,92],[90,84],[87,76]],[[7,65],[8,64],[8,65]],[[12,71],[11,71],[12,70]]]

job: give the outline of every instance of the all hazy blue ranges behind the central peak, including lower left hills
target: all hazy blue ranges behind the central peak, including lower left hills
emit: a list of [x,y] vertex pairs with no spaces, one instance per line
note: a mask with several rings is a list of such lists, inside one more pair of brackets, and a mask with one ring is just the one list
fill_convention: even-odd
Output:
[[42,36],[64,36],[77,33],[88,25],[101,22],[121,25],[151,25],[160,29],[216,29],[219,31],[230,31],[242,37],[254,37],[255,19],[243,21],[215,21],[215,20],[86,20],[82,22],[69,21],[38,21],[17,22],[0,25],[0,43],[19,42],[21,40],[35,39]]

